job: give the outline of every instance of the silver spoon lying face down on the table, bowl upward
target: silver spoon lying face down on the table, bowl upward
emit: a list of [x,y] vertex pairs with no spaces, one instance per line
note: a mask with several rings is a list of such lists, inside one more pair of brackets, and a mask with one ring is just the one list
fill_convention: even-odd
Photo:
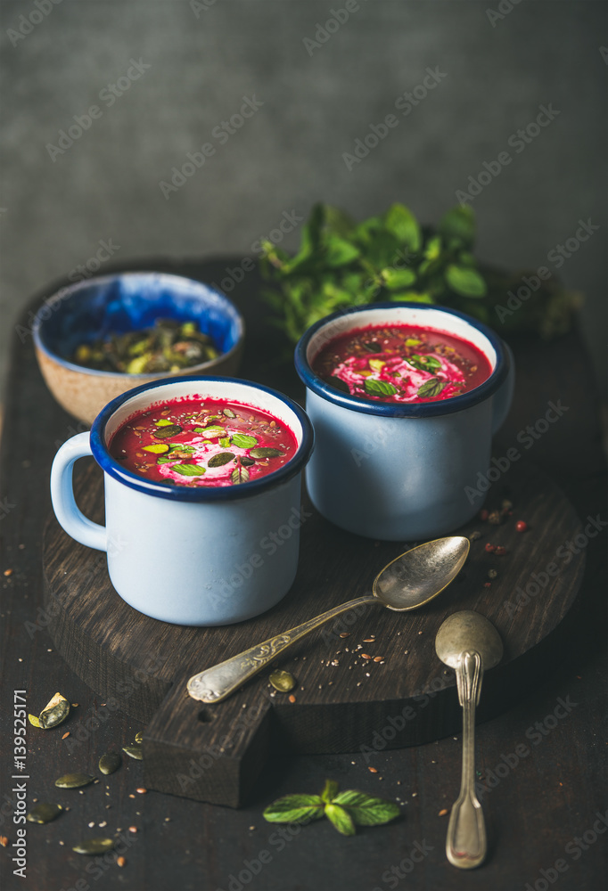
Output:
[[503,658],[503,642],[494,625],[472,609],[453,613],[435,638],[437,655],[456,670],[458,699],[463,707],[463,771],[460,795],[449,815],[446,855],[453,866],[472,870],[487,852],[483,811],[475,795],[475,706],[480,701],[483,672]]

